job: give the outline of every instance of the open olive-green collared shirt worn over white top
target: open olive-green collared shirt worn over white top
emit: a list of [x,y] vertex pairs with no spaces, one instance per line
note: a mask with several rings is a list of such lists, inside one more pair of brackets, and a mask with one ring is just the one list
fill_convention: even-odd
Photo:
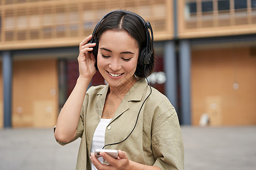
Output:
[[[90,147],[101,119],[108,85],[90,87],[82,105],[76,138],[81,138],[76,169],[91,169]],[[119,89],[126,94],[126,89]],[[127,92],[105,132],[105,145],[123,141],[133,130],[139,109],[150,94],[146,80],[138,80]],[[118,97],[118,96],[117,96]],[[119,96],[120,97],[120,96]],[[71,141],[71,142],[72,142]],[[65,145],[66,143],[61,143]],[[161,169],[184,169],[184,147],[175,108],[155,88],[145,101],[133,133],[106,149],[125,151],[134,162]]]

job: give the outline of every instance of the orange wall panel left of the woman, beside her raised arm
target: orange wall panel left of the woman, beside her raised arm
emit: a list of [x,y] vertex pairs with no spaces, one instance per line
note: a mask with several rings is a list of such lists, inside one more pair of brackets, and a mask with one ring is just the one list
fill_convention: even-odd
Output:
[[53,127],[58,112],[57,59],[13,64],[13,127]]

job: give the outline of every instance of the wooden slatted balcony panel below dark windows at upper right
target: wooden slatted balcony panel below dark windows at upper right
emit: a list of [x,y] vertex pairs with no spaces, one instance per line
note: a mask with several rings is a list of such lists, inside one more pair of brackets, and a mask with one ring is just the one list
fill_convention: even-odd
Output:
[[[230,1],[230,10],[218,11],[218,0],[212,0],[213,11],[207,13],[201,12],[202,1],[177,2],[180,9],[177,19],[180,38],[256,33],[256,10],[250,7],[251,3],[248,3],[248,8],[235,10],[234,1]],[[197,12],[191,16],[186,7],[187,2],[197,2]]]

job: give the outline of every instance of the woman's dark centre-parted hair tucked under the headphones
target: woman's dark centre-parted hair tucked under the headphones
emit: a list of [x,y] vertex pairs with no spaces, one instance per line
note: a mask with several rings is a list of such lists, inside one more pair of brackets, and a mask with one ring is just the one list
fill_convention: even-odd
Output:
[[141,60],[143,60],[143,55],[141,55],[141,49],[146,48],[147,46],[147,35],[146,28],[144,27],[142,21],[138,18],[138,16],[126,13],[125,11],[114,11],[112,14],[106,16],[106,18],[102,20],[95,33],[96,39],[100,41],[102,33],[108,30],[126,31],[137,42],[137,45],[139,47],[139,58],[135,70],[135,76],[138,76],[139,78],[144,78],[145,76],[150,75],[154,71],[154,50],[150,56],[150,62],[147,65],[144,65],[143,62],[140,62]]

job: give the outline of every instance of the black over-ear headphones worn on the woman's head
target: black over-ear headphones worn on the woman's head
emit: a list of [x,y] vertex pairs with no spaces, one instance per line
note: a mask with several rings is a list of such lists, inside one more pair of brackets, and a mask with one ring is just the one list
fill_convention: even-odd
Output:
[[[100,26],[101,22],[110,14],[114,13],[114,12],[124,12],[126,14],[131,14],[131,15],[135,15],[137,16],[137,18],[139,20],[141,20],[141,23],[144,25],[145,29],[146,29],[146,36],[147,36],[147,46],[146,48],[141,49],[140,53],[139,53],[139,61],[138,63],[140,63],[141,65],[148,65],[150,63],[150,58],[151,55],[153,53],[153,42],[154,42],[154,35],[153,35],[153,31],[152,31],[152,27],[150,22],[145,22],[145,20],[139,16],[138,14],[135,14],[134,12],[129,12],[129,11],[123,11],[123,10],[115,10],[115,11],[111,11],[108,14],[104,15],[103,18],[100,20],[100,22],[97,23],[96,27],[93,30],[92,33],[92,39],[89,41],[89,43],[96,43],[96,46],[94,46],[92,53],[96,59],[96,69],[98,70],[97,67],[97,55],[98,55],[98,40],[95,37],[96,31],[98,30],[98,27]],[[148,29],[150,29],[151,32],[151,37],[150,37],[150,33],[148,31]]]

